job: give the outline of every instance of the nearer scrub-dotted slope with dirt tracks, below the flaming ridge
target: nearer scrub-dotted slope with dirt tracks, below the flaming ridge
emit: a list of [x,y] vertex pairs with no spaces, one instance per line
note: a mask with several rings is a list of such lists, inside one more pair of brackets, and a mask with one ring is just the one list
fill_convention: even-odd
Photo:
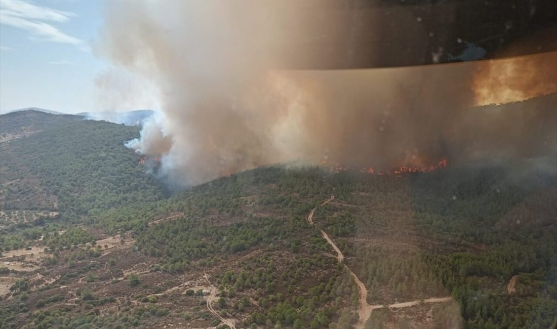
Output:
[[[441,169],[398,178],[270,167],[113,208],[98,223],[127,222],[132,232],[120,227],[103,238],[84,228],[37,242],[49,250],[34,270],[45,279],[17,275],[40,312],[17,313],[22,290],[14,288],[9,323],[62,323],[45,322],[58,310],[59,321],[126,327],[110,310],[138,305],[152,315],[129,308],[130,326],[350,328],[361,289],[336,265],[323,230],[367,290],[366,328],[548,327],[557,311],[556,183],[525,188],[509,174]],[[514,276],[519,292],[510,294]],[[84,291],[92,297],[72,297]],[[105,315],[90,322],[87,305]]]

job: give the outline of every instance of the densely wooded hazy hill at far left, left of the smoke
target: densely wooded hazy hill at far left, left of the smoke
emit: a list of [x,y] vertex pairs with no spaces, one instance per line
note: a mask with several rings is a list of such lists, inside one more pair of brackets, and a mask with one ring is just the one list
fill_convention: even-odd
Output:
[[[14,129],[25,122],[19,124],[22,130],[37,130],[1,144],[0,225],[18,223],[18,229],[0,238],[0,248],[21,248],[21,234],[40,228],[41,218],[83,223],[102,210],[164,197],[163,186],[124,146],[138,136],[138,127],[75,116],[43,117],[33,111],[14,115],[2,116],[2,122]],[[46,125],[49,121],[53,123]]]

